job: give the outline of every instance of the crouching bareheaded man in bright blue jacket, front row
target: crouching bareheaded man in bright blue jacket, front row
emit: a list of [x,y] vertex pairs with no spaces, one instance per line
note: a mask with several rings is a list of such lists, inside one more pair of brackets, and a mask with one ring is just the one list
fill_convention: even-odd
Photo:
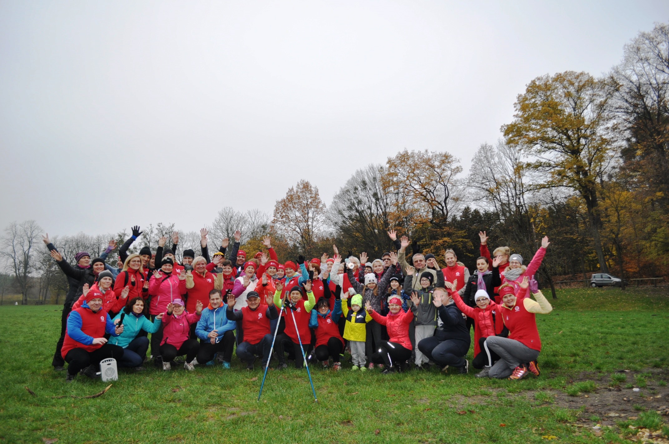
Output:
[[[197,303],[202,304],[200,300]],[[237,323],[227,318],[227,304],[223,304],[221,290],[212,289],[207,304],[209,305],[202,311],[200,320],[195,326],[195,334],[200,338],[197,362],[213,365],[214,354],[220,353],[223,355],[222,367],[229,369],[235,346]]]

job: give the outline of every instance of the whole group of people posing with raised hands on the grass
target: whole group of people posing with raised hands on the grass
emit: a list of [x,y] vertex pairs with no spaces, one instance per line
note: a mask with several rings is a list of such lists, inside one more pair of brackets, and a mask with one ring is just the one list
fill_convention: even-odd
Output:
[[388,374],[434,365],[466,374],[472,326],[476,376],[539,376],[535,315],[552,307],[534,274],[548,237],[526,266],[509,247],[490,255],[482,231],[470,273],[452,249],[444,251],[443,268],[433,254],[407,259],[409,239],[398,239],[395,231],[388,235],[397,251],[371,262],[366,253],[342,257],[333,245],[332,257],[300,255],[285,263],[278,261],[270,237],[263,241],[266,251],[247,257],[239,231],[231,248],[223,239],[212,257],[206,229],[201,254],[185,249],[181,263],[174,254],[178,233],[171,248],[161,237],[155,252],[145,246],[128,253],[141,233],[132,227],[116,267],[106,263],[114,241],[100,257],[81,251],[70,264],[44,237],[70,284],[52,362],[56,370],[68,363],[67,380],[79,373],[95,377],[105,358],[136,370],[150,358],[171,370],[177,356],[185,356],[186,370],[217,362],[227,369],[235,348],[249,370],[258,358],[263,368],[280,370],[294,360],[296,368],[321,362],[341,370],[349,352],[353,371],[379,368]]

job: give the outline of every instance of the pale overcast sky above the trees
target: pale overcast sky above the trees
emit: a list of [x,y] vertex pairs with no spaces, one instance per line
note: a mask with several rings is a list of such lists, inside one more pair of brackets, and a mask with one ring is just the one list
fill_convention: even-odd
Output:
[[525,85],[600,75],[668,1],[0,1],[0,228],[51,235],[274,203],[448,150],[467,170]]

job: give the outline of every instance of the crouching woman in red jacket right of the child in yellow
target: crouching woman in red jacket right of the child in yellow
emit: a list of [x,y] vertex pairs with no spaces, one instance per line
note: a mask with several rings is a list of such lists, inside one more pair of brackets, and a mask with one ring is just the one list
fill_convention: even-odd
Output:
[[390,340],[380,340],[377,344],[377,352],[372,355],[372,359],[386,365],[383,374],[401,371],[407,359],[411,357],[411,340],[409,340],[409,324],[413,320],[413,313],[402,311],[402,300],[400,298],[391,298],[388,303],[390,312],[383,316],[376,312],[371,304],[365,304],[365,310],[373,320],[381,325],[385,325]]

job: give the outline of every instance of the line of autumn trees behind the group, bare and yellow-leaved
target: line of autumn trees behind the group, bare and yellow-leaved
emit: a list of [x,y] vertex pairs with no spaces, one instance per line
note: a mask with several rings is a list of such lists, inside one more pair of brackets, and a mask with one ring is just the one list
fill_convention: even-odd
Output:
[[[480,144],[468,175],[447,150],[402,150],[385,164],[356,171],[330,205],[318,188],[299,181],[276,201],[270,216],[225,207],[209,229],[212,242],[242,231],[242,247],[262,249],[272,235],[280,259],[320,257],[336,244],[342,252],[380,257],[393,244],[388,229],[411,238],[411,250],[452,248],[470,268],[479,231],[493,247],[509,245],[529,258],[539,239],[551,253],[539,271],[587,278],[593,271],[619,277],[666,275],[669,261],[669,25],[657,23],[623,48],[622,62],[604,76],[566,71],[531,80],[514,103],[513,120],[494,144]],[[133,221],[128,221],[131,224]],[[35,221],[5,229],[1,254],[5,288],[39,298],[64,294],[67,282],[41,245]],[[179,231],[150,225],[133,249],[157,246]],[[118,233],[53,237],[63,256],[104,251]],[[199,233],[179,233],[177,257],[199,249]],[[35,241],[37,239],[37,241]],[[211,248],[211,247],[210,247]],[[116,265],[116,252],[108,257]],[[11,276],[11,279],[8,278]]]

